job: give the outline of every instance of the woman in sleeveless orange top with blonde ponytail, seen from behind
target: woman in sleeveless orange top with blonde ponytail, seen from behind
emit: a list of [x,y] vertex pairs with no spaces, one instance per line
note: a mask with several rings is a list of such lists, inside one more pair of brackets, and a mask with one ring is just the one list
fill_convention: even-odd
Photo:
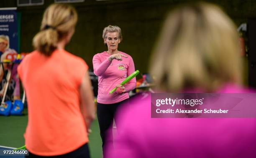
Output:
[[27,157],[90,157],[95,109],[88,66],[65,50],[76,23],[73,7],[50,5],[33,38],[35,50],[18,67],[28,98]]

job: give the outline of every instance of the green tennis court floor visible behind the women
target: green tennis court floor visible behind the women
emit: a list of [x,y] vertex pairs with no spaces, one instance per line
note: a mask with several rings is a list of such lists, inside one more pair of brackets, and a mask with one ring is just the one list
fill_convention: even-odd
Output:
[[[23,134],[28,122],[27,109],[22,116],[0,116],[0,146],[18,148],[24,145]],[[102,158],[100,129],[97,119],[92,123],[89,135],[91,158]],[[1,157],[1,156],[0,156]]]

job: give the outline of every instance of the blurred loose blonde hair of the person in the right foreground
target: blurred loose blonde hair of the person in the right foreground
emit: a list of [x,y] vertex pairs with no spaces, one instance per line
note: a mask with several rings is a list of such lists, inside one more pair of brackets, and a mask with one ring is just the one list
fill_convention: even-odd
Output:
[[197,3],[170,13],[153,53],[151,73],[161,90],[213,92],[241,83],[238,33],[216,5]]

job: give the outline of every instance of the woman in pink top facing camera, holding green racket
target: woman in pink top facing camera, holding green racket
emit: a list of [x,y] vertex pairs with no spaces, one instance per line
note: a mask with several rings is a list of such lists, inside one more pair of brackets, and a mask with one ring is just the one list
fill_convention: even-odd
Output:
[[[118,106],[128,101],[128,92],[136,87],[136,78],[123,86],[120,85],[135,71],[131,56],[118,50],[118,44],[122,41],[121,29],[109,25],[104,28],[102,38],[108,46],[108,51],[94,55],[92,63],[94,73],[98,76],[97,117],[104,155],[105,142],[112,141],[112,138],[106,138],[106,132],[113,123]],[[115,91],[110,94],[110,90],[115,87],[120,87],[122,93]],[[115,119],[115,123],[118,128],[118,120]],[[111,130],[110,128],[110,133]]]

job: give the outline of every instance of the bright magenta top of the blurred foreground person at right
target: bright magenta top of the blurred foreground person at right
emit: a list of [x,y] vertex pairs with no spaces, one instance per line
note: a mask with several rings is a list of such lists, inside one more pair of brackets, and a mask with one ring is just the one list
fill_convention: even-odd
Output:
[[[235,86],[217,92],[251,93]],[[116,116],[122,123],[115,148],[107,144],[109,158],[256,158],[256,118],[151,118],[150,94]]]

